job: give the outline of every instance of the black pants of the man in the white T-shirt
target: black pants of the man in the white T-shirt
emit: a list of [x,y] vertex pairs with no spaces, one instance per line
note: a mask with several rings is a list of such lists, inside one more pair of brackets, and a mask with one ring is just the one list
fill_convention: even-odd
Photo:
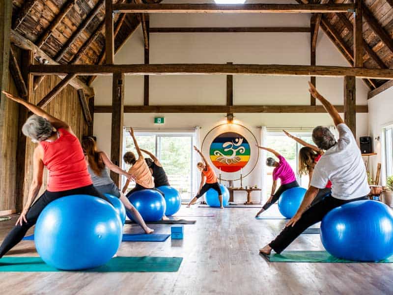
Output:
[[309,207],[309,209],[303,213],[302,217],[295,223],[293,227],[285,227],[280,235],[270,242],[269,246],[272,247],[276,253],[281,253],[308,227],[321,221],[330,210],[346,203],[367,199],[367,196],[352,200],[340,200],[333,198],[332,196],[325,197],[322,201],[316,203],[314,206]]

